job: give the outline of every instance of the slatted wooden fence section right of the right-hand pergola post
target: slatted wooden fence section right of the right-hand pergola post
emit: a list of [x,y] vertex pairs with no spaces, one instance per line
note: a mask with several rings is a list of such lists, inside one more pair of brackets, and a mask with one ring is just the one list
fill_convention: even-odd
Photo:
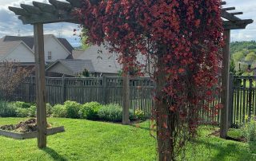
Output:
[[256,114],[256,77],[233,77],[230,87],[231,124],[243,124]]

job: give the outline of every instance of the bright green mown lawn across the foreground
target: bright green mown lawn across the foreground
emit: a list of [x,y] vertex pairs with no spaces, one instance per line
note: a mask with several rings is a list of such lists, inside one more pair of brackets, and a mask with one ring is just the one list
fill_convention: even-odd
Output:
[[[0,124],[16,124],[21,118],[0,118]],[[156,142],[148,122],[134,126],[89,120],[48,119],[64,125],[66,132],[48,137],[48,147],[39,150],[36,139],[16,140],[0,136],[0,160],[156,160]],[[256,160],[246,143],[209,136],[202,127],[200,137],[190,144],[186,160]]]

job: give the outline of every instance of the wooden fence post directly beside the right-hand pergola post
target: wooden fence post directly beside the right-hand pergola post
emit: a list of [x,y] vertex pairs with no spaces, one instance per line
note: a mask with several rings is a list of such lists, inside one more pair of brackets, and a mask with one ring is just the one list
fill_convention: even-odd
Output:
[[229,93],[230,93],[230,97],[229,97],[229,120],[228,120],[228,126],[229,128],[231,127],[231,125],[234,123],[233,120],[233,112],[234,112],[234,75],[233,73],[230,73],[230,88],[229,88]]

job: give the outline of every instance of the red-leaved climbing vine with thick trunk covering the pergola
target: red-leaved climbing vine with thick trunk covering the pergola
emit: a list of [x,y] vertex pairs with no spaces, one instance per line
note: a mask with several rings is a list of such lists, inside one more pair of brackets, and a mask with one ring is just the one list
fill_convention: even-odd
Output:
[[220,0],[84,0],[77,14],[87,41],[105,44],[119,61],[156,72],[154,120],[158,160],[175,160],[196,134],[198,112],[218,95],[222,47]]

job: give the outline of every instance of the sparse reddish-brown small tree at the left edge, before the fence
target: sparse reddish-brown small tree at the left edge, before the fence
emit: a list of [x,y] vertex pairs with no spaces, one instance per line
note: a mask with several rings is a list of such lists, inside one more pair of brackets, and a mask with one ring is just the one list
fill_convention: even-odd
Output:
[[19,66],[18,62],[3,61],[0,63],[0,96],[3,98],[10,96],[29,74],[30,72]]

